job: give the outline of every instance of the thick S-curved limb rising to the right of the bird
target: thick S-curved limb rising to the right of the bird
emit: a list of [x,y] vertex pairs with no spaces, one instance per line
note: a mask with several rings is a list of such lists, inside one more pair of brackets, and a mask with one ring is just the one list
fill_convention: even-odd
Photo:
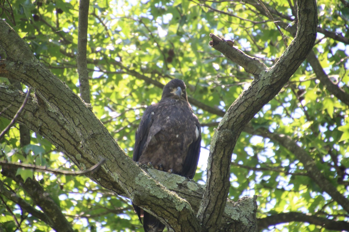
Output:
[[[241,131],[262,106],[279,93],[314,45],[318,23],[316,2],[314,0],[297,1],[297,4],[298,27],[295,39],[279,61],[269,70],[247,69],[255,73],[256,77],[250,87],[229,107],[211,141],[207,185],[198,212],[200,223],[208,231],[215,231],[224,211],[224,202],[230,186],[231,154]],[[210,45],[223,54],[232,51],[232,47],[224,40],[218,43],[214,40]],[[228,58],[231,57],[228,56]],[[237,63],[245,65],[241,62]],[[254,65],[256,66],[258,67]]]

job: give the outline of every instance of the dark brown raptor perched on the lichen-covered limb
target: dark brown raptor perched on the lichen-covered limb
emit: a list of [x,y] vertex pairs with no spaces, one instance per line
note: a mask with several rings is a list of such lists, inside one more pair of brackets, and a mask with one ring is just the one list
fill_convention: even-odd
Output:
[[[147,107],[136,130],[133,161],[193,179],[198,166],[201,127],[188,102],[183,80],[172,79],[161,100]],[[145,232],[161,232],[165,225],[133,204]]]

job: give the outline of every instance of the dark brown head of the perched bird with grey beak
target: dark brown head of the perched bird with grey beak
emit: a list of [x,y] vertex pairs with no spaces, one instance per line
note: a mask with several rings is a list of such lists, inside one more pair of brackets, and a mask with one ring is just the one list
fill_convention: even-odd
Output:
[[162,97],[164,98],[174,98],[183,101],[188,101],[185,83],[179,79],[173,79],[167,83],[162,91]]

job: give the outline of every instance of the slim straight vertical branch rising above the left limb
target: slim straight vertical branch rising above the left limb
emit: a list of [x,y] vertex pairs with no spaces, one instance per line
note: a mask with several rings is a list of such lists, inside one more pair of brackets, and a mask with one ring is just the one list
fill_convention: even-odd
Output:
[[77,32],[77,72],[79,74],[80,96],[86,102],[90,103],[90,86],[87,70],[87,29],[88,29],[88,9],[90,0],[80,0],[79,5],[79,25]]

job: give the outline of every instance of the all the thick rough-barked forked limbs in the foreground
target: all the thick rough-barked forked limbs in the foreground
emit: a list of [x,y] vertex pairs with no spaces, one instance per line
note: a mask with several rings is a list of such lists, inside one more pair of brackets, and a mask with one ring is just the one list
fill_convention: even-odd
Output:
[[[0,61],[0,74],[32,87],[35,92],[18,122],[46,137],[81,169],[105,158],[102,169],[89,177],[150,210],[170,231],[256,231],[255,199],[227,201],[231,153],[246,123],[279,92],[313,45],[316,4],[310,0],[299,4],[297,36],[275,66],[266,69],[254,58],[238,52],[250,59],[252,64],[240,65],[247,65],[245,69],[256,78],[231,105],[217,128],[211,143],[205,191],[203,186],[183,177],[157,170],[145,171],[136,165],[89,107],[38,62],[23,40],[3,21],[0,21],[0,46],[8,57]],[[218,41],[214,48],[222,52],[234,49],[224,40]],[[0,107],[6,108],[1,116],[12,118],[23,98],[22,92],[0,86]],[[200,221],[196,217],[198,210]]]

